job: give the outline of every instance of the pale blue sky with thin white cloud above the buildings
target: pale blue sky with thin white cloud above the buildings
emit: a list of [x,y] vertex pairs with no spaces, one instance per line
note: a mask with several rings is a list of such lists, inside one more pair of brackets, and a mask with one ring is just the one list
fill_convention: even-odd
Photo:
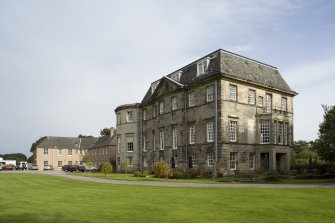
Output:
[[42,136],[99,136],[114,109],[224,49],[278,68],[294,140],[335,104],[335,1],[0,0],[0,154]]

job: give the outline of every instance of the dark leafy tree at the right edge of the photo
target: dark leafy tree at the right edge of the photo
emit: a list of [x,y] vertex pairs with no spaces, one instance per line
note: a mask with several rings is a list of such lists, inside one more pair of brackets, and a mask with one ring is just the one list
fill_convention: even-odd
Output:
[[323,122],[319,126],[319,138],[314,146],[323,160],[335,162],[335,106],[322,107]]

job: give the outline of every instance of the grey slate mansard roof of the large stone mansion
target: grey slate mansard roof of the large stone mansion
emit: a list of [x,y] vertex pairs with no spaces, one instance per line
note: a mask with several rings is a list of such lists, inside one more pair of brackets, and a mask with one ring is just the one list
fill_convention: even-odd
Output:
[[[207,72],[196,76],[197,62],[203,59],[209,60]],[[175,72],[178,71],[182,71],[179,83],[185,87],[221,75],[222,77],[274,88],[292,95],[297,94],[288,86],[276,67],[222,49],[210,53]],[[171,77],[175,72],[168,74],[167,77]],[[141,104],[150,101],[151,95],[151,88],[149,88]]]

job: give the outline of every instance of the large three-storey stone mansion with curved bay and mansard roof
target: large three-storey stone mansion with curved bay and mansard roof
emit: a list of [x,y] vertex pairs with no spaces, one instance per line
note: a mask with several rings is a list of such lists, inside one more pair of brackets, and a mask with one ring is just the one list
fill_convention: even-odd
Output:
[[215,175],[286,172],[295,95],[276,67],[219,49],[115,109],[117,171],[163,160]]

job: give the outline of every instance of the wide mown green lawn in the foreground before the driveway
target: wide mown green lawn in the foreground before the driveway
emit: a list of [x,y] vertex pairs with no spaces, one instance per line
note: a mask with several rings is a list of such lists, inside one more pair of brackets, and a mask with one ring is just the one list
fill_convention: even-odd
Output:
[[334,222],[335,189],[126,186],[0,174],[0,222]]

